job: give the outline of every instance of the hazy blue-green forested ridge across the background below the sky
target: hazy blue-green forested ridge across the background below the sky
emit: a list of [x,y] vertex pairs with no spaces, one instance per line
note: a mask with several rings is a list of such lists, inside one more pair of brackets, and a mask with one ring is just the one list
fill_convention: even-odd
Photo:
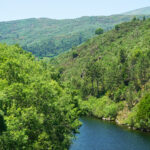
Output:
[[26,19],[0,22],[0,42],[19,44],[39,57],[52,57],[80,45],[95,35],[99,27],[109,30],[133,16],[114,15],[77,19]]

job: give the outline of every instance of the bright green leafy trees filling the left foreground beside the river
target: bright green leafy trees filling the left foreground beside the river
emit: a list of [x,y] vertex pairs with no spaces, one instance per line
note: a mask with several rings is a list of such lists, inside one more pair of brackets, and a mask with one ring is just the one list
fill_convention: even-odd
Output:
[[0,149],[65,150],[79,126],[75,94],[19,46],[0,45]]

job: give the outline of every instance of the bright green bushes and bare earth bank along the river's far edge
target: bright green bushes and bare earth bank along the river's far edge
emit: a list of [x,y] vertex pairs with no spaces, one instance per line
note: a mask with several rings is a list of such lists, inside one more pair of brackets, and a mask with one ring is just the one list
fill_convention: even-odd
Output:
[[150,96],[145,96],[132,109],[129,109],[125,101],[115,103],[107,96],[102,98],[89,98],[88,101],[80,101],[81,114],[92,116],[106,121],[114,121],[116,124],[126,126],[133,130],[150,132],[149,106]]

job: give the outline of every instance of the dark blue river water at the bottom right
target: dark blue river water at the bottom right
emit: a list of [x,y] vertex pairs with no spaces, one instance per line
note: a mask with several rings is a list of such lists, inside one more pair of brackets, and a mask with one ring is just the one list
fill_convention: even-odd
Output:
[[150,150],[149,133],[92,118],[81,118],[81,122],[70,150]]

